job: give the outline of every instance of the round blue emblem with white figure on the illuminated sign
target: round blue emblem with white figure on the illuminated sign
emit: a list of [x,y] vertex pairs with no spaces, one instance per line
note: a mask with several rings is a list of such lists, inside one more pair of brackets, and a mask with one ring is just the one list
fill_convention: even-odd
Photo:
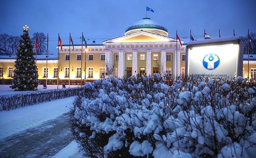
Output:
[[207,54],[203,58],[203,66],[207,70],[215,70],[220,65],[220,58],[214,53]]

